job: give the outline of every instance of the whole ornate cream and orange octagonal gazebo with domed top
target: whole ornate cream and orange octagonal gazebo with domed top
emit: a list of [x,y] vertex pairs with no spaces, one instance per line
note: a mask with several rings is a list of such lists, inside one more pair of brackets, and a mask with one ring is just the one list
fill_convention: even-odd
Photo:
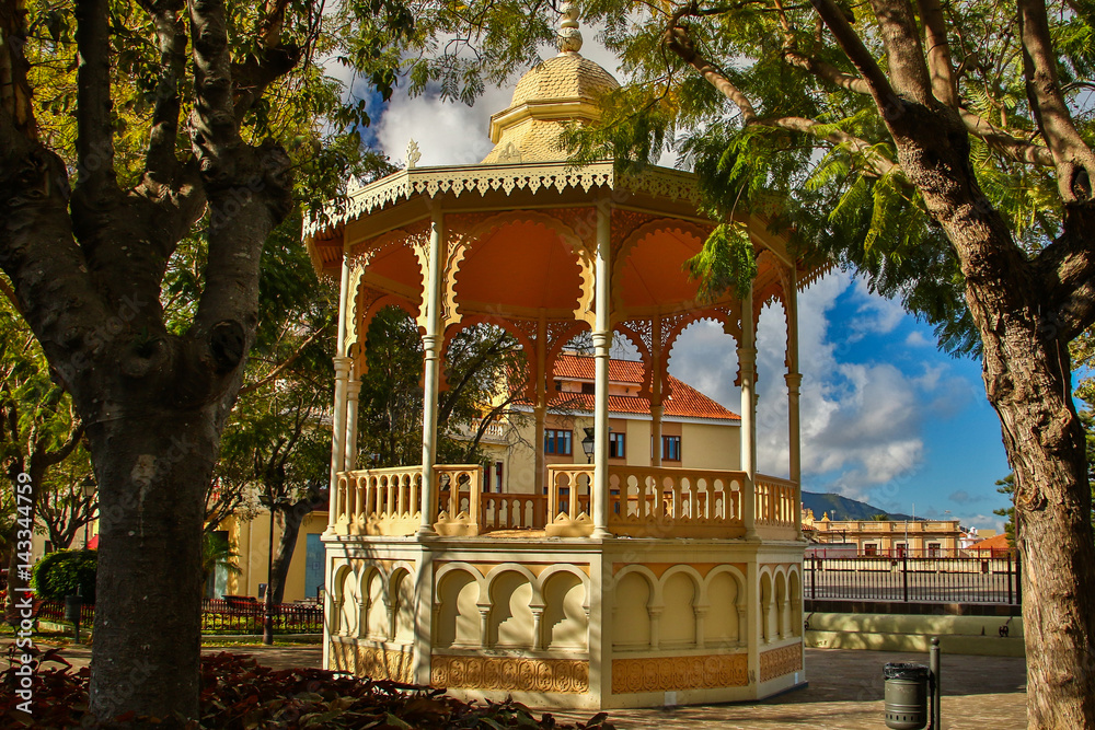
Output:
[[[412,143],[407,169],[356,187],[304,231],[316,269],[341,277],[324,665],[541,707],[766,697],[804,682],[796,291],[810,271],[748,220],[752,287],[700,303],[681,265],[715,222],[693,176],[575,167],[558,150],[561,123],[596,119],[619,85],[578,54],[572,10],[560,35],[560,55],[492,117],[496,146],[481,164],[417,166]],[[769,302],[787,321],[789,479],[756,470],[754,343]],[[358,468],[366,333],[388,305],[422,334],[422,463]],[[700,320],[737,340],[739,467],[666,466],[657,449],[648,465],[610,466],[613,336],[639,350],[658,434],[669,354]],[[591,464],[545,467],[538,448],[533,484],[496,494],[480,465],[437,463],[446,348],[482,323],[526,350],[539,444],[545,373],[590,331]]]

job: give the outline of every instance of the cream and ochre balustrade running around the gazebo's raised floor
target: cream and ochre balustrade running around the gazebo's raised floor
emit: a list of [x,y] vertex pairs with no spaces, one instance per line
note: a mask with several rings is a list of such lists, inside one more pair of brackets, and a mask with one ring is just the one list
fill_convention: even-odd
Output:
[[[497,530],[540,530],[549,536],[590,535],[592,464],[548,467],[548,494],[484,493],[483,467],[434,468],[435,529],[445,536]],[[609,530],[633,537],[734,538],[745,534],[744,472],[668,466],[609,468]],[[338,475],[336,530],[344,534],[411,535],[420,523],[422,467],[343,472]],[[793,482],[758,474],[752,498],[757,526],[796,529],[798,490]],[[788,533],[789,535],[789,533]]]

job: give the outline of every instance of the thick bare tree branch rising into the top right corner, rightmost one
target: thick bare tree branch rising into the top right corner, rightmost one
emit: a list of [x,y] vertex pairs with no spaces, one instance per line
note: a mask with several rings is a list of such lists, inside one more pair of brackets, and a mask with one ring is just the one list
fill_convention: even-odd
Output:
[[1042,0],[1018,0],[1018,11],[1027,97],[1053,153],[1061,198],[1065,205],[1092,200],[1095,154],[1076,130],[1061,92],[1046,4]]

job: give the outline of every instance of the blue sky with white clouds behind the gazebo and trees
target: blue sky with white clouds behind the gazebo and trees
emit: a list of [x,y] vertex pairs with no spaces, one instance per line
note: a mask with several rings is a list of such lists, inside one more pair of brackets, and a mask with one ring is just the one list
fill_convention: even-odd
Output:
[[[591,35],[586,32],[583,55],[614,70],[611,56],[588,42]],[[411,139],[422,150],[419,165],[475,163],[493,147],[491,114],[506,108],[511,93],[487,89],[468,107],[396,90],[377,108],[367,136],[397,163]],[[662,160],[672,163],[670,154]],[[758,335],[758,451],[760,468],[776,475],[787,463],[784,338],[782,310],[766,309]],[[918,517],[1002,529],[992,511],[1007,500],[994,482],[1010,470],[979,362],[940,352],[930,327],[840,271],[799,296],[799,347],[805,489],[888,511],[911,513],[915,505]],[[735,344],[716,325],[689,327],[670,371],[740,410]]]

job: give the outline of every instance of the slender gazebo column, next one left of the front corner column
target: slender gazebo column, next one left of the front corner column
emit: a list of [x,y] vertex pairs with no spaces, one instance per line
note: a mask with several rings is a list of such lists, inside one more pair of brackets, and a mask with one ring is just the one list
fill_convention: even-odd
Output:
[[423,369],[422,416],[422,524],[419,535],[433,535],[434,510],[437,507],[437,485],[434,462],[437,459],[437,393],[440,386],[441,341],[441,266],[445,260],[445,220],[434,210],[429,231],[429,270],[426,276],[426,334],[422,347],[426,354]]

